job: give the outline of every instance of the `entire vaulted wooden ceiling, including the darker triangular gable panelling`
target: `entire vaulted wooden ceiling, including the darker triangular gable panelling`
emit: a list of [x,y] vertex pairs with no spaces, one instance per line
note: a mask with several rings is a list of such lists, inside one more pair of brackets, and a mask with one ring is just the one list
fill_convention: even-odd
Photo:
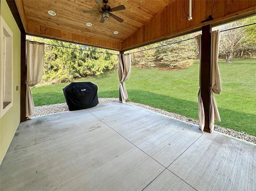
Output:
[[[116,50],[130,49],[182,33],[198,30],[204,24],[219,24],[256,14],[256,1],[192,0],[193,20],[188,21],[188,0],[109,0],[114,18],[100,23],[101,10],[94,0],[15,0],[25,31],[28,34],[72,41]],[[184,11],[185,8],[185,11]],[[56,12],[50,16],[48,10]],[[202,24],[212,15],[213,21]],[[184,18],[185,17],[185,18]],[[184,18],[182,20],[182,18]],[[91,27],[86,23],[92,23]],[[118,31],[118,34],[114,34]]]

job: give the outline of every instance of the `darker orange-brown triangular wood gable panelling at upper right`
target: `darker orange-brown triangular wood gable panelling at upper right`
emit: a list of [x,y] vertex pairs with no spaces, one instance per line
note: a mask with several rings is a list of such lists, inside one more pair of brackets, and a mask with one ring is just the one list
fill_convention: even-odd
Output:
[[[206,24],[216,26],[256,14],[256,1],[252,0],[200,0],[193,3],[195,5],[192,21],[188,21],[187,17],[184,18],[186,16],[184,1],[175,0],[124,40],[121,43],[121,50],[126,51],[148,43],[198,31]],[[188,12],[188,3],[186,3],[185,10]],[[212,15],[214,20],[202,23],[209,15]]]

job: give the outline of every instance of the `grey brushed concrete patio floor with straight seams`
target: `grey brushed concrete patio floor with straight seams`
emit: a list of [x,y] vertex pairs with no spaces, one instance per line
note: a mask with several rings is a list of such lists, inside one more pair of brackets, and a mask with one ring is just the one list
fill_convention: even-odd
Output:
[[22,122],[1,191],[255,191],[256,144],[130,104]]

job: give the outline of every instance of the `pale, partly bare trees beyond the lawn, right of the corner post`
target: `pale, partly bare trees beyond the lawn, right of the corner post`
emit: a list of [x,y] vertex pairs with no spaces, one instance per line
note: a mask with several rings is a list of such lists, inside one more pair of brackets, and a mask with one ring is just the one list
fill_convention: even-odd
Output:
[[[252,23],[256,23],[256,16],[212,28],[212,30],[220,31],[236,28],[221,32],[219,44],[220,59],[226,59],[226,63],[231,63],[232,58],[256,57],[256,25],[238,28],[239,26]],[[194,39],[194,36],[198,34],[200,32],[132,50],[131,52],[140,51],[132,54],[132,63],[140,68],[182,69],[187,67],[194,62],[194,59],[198,59],[199,50]],[[151,49],[152,47],[156,48]]]

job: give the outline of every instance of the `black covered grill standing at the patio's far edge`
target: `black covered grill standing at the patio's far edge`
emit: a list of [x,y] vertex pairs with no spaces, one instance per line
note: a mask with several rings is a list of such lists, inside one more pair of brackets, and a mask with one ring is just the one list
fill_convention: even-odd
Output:
[[62,90],[70,111],[94,107],[99,103],[98,87],[91,82],[72,82]]

